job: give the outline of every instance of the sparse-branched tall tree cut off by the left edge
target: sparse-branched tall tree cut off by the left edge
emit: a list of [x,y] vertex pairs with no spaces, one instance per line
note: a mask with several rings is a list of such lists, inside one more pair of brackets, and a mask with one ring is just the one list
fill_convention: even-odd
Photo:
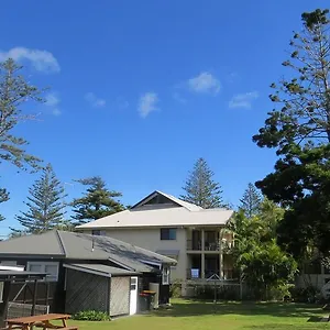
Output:
[[[30,100],[43,101],[42,90],[25,80],[22,68],[11,58],[0,63],[0,164],[9,162],[20,169],[35,169],[40,160],[28,154],[24,150],[28,142],[13,133],[20,121],[33,119],[33,116],[22,114],[22,107]],[[8,199],[6,189],[0,189],[0,202]],[[3,219],[0,216],[0,220]]]

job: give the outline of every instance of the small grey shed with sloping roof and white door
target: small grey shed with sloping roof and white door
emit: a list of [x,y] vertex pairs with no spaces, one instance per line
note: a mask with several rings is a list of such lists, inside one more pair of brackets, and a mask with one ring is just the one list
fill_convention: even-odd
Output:
[[117,317],[138,309],[136,272],[102,264],[64,264],[66,268],[65,310],[99,310]]

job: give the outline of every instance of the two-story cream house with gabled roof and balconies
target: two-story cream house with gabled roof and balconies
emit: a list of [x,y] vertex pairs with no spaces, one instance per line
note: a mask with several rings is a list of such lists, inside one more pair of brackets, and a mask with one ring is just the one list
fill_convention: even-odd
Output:
[[233,211],[204,209],[154,191],[131,209],[79,226],[77,229],[157,252],[177,260],[172,280],[184,284],[234,277],[230,254],[232,234],[224,226]]

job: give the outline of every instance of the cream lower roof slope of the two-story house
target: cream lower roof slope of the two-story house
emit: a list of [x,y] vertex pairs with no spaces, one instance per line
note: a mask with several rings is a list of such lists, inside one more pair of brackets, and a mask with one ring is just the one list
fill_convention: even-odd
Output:
[[77,228],[87,230],[141,227],[224,226],[232,215],[232,210],[226,209],[199,209],[198,211],[190,211],[184,207],[124,210]]

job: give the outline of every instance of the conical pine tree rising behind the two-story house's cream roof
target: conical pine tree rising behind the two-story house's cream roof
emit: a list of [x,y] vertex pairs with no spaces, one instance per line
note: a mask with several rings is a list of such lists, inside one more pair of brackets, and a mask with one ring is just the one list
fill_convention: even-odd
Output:
[[219,183],[213,180],[215,173],[204,158],[197,160],[179,198],[205,209],[227,207]]

